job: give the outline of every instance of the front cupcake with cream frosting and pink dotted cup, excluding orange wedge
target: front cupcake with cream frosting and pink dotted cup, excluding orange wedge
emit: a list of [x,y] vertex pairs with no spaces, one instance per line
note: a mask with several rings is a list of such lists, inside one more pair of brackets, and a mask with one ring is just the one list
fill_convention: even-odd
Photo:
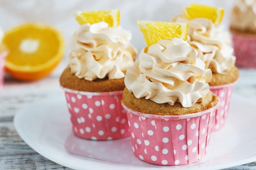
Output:
[[218,97],[207,83],[211,70],[197,55],[180,38],[160,40],[128,68],[122,104],[142,161],[174,166],[205,157]]

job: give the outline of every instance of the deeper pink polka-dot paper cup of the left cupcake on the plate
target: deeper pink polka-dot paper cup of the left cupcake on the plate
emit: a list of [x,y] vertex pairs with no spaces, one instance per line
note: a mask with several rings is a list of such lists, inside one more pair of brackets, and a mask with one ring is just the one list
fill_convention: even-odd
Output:
[[130,135],[123,91],[81,92],[63,88],[76,136],[92,140],[120,139]]

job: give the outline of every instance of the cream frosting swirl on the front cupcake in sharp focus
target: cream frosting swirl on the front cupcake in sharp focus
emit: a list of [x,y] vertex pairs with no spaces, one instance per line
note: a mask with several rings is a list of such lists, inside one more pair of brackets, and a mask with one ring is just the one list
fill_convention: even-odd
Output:
[[197,54],[184,40],[161,40],[139,53],[139,61],[128,68],[124,83],[137,98],[191,107],[202,102],[211,80],[211,70],[205,69]]

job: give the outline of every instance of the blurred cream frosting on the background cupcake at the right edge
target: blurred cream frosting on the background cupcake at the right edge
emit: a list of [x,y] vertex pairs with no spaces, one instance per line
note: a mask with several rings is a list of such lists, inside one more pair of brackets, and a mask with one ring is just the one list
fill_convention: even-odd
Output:
[[232,29],[256,33],[256,0],[236,0],[230,19]]

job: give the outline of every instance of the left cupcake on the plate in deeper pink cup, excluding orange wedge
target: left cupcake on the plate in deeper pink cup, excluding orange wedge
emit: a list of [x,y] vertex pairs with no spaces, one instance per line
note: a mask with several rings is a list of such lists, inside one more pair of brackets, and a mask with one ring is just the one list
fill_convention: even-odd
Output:
[[76,136],[92,140],[129,136],[121,97],[126,70],[137,57],[130,40],[130,31],[104,21],[82,24],[72,35],[67,68],[59,81]]

